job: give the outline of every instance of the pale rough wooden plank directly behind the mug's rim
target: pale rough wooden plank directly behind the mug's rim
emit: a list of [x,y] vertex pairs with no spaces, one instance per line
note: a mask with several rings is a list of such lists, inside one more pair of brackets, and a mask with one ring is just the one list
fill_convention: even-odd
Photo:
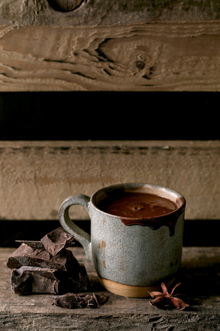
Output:
[[[1,141],[1,219],[57,219],[70,195],[154,183],[186,198],[186,219],[219,219],[219,141]],[[73,206],[74,219],[88,219]]]

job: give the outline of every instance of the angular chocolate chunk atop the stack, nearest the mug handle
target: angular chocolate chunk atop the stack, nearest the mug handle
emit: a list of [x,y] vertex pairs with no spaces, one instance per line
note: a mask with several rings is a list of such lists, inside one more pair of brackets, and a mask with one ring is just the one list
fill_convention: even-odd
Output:
[[41,239],[41,242],[43,243],[47,252],[51,253],[52,255],[56,255],[66,247],[69,247],[73,239],[73,235],[59,227],[58,229],[55,229],[54,231],[46,234]]

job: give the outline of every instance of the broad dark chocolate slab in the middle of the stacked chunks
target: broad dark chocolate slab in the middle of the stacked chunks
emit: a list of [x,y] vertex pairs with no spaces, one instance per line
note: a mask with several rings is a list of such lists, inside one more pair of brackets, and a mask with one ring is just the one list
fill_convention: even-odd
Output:
[[42,248],[33,249],[24,243],[18,247],[7,262],[7,266],[11,269],[19,268],[22,265],[59,269],[70,272],[78,270],[78,261],[74,258],[71,251],[64,250],[56,256],[53,256]]

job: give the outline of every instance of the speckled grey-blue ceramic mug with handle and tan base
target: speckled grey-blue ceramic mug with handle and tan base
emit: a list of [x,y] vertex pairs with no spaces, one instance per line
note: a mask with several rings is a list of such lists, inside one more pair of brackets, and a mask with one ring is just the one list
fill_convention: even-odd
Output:
[[[149,224],[126,226],[119,216],[97,207],[101,200],[120,192],[160,195],[175,202],[178,209],[157,216],[153,227]],[[82,205],[89,213],[91,237],[69,218],[72,205]],[[84,194],[70,196],[59,208],[59,220],[83,245],[87,259],[93,261],[99,280],[107,290],[141,298],[149,296],[148,291],[159,290],[161,281],[168,286],[172,284],[181,262],[184,213],[185,199],[180,193],[160,185],[127,183],[104,187],[91,198]],[[175,230],[172,236],[171,224]]]

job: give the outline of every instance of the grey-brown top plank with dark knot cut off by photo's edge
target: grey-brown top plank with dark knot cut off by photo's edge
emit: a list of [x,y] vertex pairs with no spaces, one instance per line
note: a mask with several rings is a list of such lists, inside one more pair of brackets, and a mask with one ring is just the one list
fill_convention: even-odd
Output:
[[[63,6],[64,3],[67,6]],[[217,20],[216,0],[1,0],[0,24],[110,25],[150,21]],[[56,7],[54,3],[61,6]],[[57,10],[55,10],[57,9]],[[64,10],[72,10],[62,12]],[[61,10],[61,12],[60,12]]]

